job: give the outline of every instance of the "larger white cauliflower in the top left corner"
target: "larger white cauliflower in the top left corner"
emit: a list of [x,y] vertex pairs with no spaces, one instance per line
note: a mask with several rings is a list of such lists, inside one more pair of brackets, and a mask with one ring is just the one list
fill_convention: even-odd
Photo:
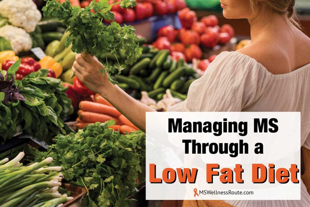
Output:
[[11,25],[33,32],[41,20],[41,12],[32,0],[2,0],[0,15],[8,18]]

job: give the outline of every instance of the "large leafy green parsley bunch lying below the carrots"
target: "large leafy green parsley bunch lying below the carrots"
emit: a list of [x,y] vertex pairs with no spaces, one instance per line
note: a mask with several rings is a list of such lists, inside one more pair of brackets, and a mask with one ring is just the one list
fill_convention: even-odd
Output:
[[113,124],[95,123],[76,134],[58,135],[47,152],[30,150],[35,151],[34,161],[52,157],[51,164],[62,167],[65,180],[90,189],[82,206],[128,206],[127,197],[137,191],[145,133],[122,135],[108,128]]

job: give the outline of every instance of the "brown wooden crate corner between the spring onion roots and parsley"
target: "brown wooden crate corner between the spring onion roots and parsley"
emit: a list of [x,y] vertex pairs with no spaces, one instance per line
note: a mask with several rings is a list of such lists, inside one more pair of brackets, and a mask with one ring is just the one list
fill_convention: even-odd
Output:
[[72,193],[72,200],[69,200],[68,202],[64,203],[64,207],[67,206],[81,206],[82,197],[87,193],[85,187],[80,187],[76,185],[72,185],[70,183],[62,183],[61,187],[65,188],[66,190],[70,191]]

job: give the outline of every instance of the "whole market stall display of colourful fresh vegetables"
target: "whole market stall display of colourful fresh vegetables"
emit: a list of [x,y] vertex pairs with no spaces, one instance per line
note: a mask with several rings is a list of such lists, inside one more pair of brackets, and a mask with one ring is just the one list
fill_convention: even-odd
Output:
[[0,1],[0,205],[147,205],[145,134],[71,68],[88,52],[166,111],[216,55],[249,43],[199,14],[183,0]]

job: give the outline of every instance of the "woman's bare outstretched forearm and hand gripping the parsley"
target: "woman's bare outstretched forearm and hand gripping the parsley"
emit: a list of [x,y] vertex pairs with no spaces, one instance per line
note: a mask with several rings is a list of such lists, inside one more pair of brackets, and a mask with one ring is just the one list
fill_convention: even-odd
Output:
[[100,73],[102,69],[104,66],[90,54],[78,54],[72,67],[73,73],[87,88],[107,99],[135,126],[145,132],[145,113],[155,110],[110,83],[107,71],[104,76]]

